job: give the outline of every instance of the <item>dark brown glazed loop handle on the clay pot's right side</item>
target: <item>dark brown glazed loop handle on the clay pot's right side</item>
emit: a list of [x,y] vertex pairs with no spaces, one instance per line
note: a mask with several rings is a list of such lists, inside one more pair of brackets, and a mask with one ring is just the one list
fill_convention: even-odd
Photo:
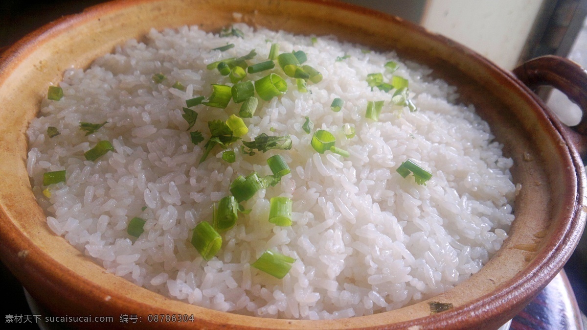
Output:
[[568,127],[561,123],[569,142],[587,160],[587,70],[572,60],[554,55],[541,56],[514,69],[514,74],[530,89],[552,86],[575,102],[583,113],[581,122]]

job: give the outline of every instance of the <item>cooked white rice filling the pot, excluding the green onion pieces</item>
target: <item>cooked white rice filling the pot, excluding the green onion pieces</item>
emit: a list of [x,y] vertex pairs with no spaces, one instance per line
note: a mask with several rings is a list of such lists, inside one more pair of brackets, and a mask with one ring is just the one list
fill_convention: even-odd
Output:
[[[393,52],[236,27],[244,38],[195,26],[151,31],[144,43],[128,41],[89,69],[65,72],[63,97],[44,100],[28,129],[28,173],[56,234],[108,272],[152,291],[265,317],[389,311],[433,297],[480,270],[514,219],[512,160],[502,156],[473,106],[454,104],[454,87]],[[225,109],[193,105],[197,119],[190,123],[185,101],[205,96],[207,102],[212,84],[232,86],[231,75],[207,65],[252,49],[256,55],[247,63],[265,62],[272,43],[279,53],[303,50],[307,61],[301,65],[318,70],[322,80],[289,78],[277,60],[274,69],[248,73],[242,81],[274,72],[287,92],[259,98],[254,116],[243,119],[248,131],[242,140],[227,143],[228,149],[215,146],[199,163],[211,137],[208,123],[238,115],[241,103],[231,101]],[[234,47],[214,50],[227,44]],[[397,64],[393,73],[385,66],[390,61]],[[403,101],[396,105],[397,88],[386,92],[372,73],[386,83],[393,76],[407,79],[409,94],[400,97],[409,97],[417,110]],[[336,98],[343,101],[339,112],[330,107]],[[367,107],[381,105],[378,120],[366,118]],[[80,123],[104,124],[90,132]],[[348,157],[329,149],[318,153],[311,145],[316,130],[332,133]],[[197,134],[191,132],[203,140],[194,144]],[[244,153],[242,142],[262,133],[289,135],[291,149]],[[106,146],[102,156],[87,160],[86,151],[100,141],[112,150]],[[234,162],[222,158],[225,150],[234,151]],[[242,201],[245,212],[220,234],[220,251],[204,260],[191,244],[196,225],[212,224],[215,204],[230,195],[238,176],[271,177],[266,160],[276,154],[291,173]],[[431,179],[418,184],[412,174],[400,175],[407,160]],[[61,170],[64,182],[43,186],[46,172]],[[272,197],[291,198],[290,226],[268,221]],[[138,237],[127,230],[133,218],[144,220],[142,233],[133,230]],[[251,267],[266,250],[295,259],[284,278]]]

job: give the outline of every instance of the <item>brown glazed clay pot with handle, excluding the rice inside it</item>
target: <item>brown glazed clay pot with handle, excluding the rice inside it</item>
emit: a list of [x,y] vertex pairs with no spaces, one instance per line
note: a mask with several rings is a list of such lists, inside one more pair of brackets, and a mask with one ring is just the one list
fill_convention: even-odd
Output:
[[[430,301],[454,308],[431,315],[429,301],[336,321],[265,319],[195,307],[130,284],[86,258],[46,225],[26,173],[29,121],[63,70],[151,27],[199,25],[218,31],[243,14],[251,25],[338,36],[374,49],[396,49],[458,86],[490,123],[522,190],[510,237],[480,272]],[[561,58],[529,62],[515,72],[530,85],[559,87],[586,109],[587,73]],[[512,318],[561,270],[585,226],[585,121],[561,124],[528,87],[477,53],[402,19],[330,0],[131,0],[67,16],[26,36],[0,56],[0,253],[31,295],[55,315],[112,316],[76,327],[247,329],[492,329]],[[578,132],[578,133],[577,133]],[[581,153],[579,153],[579,151]],[[149,322],[149,315],[194,315],[194,322]],[[120,323],[137,315],[136,323]],[[140,321],[140,322],[139,322]]]

